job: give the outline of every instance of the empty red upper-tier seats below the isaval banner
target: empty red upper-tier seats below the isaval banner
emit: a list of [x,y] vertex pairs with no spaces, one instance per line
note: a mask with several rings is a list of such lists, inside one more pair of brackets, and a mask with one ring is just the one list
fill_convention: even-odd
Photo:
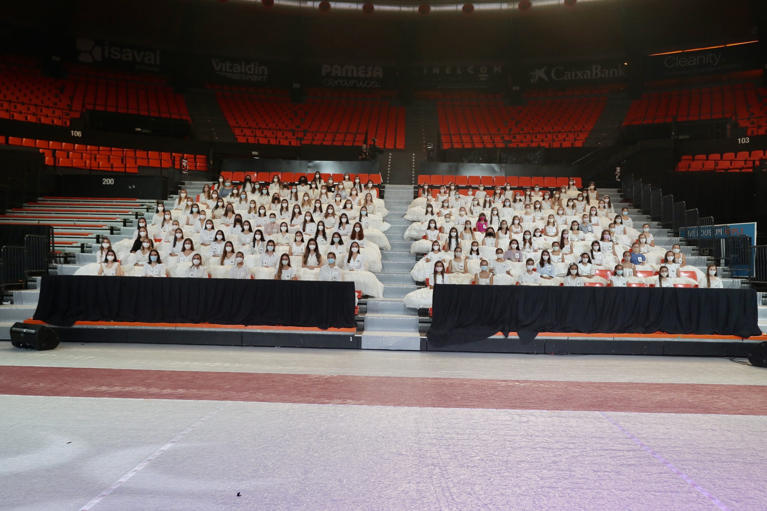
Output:
[[0,60],[0,119],[69,126],[84,110],[189,121],[181,94],[163,79],[73,66],[66,79],[44,76],[33,59]]

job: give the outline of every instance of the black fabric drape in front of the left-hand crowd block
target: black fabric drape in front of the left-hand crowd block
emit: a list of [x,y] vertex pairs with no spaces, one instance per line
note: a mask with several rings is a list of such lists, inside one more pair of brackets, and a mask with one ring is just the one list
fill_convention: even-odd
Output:
[[154,277],[42,277],[33,319],[354,328],[354,283]]

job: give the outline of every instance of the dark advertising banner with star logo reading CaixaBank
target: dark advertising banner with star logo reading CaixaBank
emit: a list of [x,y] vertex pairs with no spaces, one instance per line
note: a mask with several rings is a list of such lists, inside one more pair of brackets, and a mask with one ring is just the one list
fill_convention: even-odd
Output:
[[580,61],[528,67],[528,84],[536,87],[611,84],[628,80],[627,65],[621,60]]

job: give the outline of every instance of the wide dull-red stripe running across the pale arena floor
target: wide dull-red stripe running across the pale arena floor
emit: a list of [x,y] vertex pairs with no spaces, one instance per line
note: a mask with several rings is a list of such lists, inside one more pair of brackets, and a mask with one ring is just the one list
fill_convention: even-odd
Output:
[[0,394],[767,415],[767,387],[0,367]]

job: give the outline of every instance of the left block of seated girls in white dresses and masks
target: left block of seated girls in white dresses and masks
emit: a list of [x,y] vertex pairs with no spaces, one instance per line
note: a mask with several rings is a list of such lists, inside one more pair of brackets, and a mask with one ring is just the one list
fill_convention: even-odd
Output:
[[[119,249],[102,239],[98,274],[120,276],[127,266],[140,267],[145,277],[171,277],[173,267],[183,269],[179,277],[299,280],[306,270],[306,279],[343,280],[342,270],[367,274],[363,251],[379,265],[380,252],[365,231],[374,229],[372,211],[385,209],[372,181],[363,186],[348,178],[334,185],[318,173],[311,183],[302,176],[290,185],[275,176],[270,185],[246,179],[238,189],[221,177],[196,201],[181,190],[173,206],[160,202],[150,221],[139,219],[119,259]],[[212,267],[219,267],[215,275]]]

